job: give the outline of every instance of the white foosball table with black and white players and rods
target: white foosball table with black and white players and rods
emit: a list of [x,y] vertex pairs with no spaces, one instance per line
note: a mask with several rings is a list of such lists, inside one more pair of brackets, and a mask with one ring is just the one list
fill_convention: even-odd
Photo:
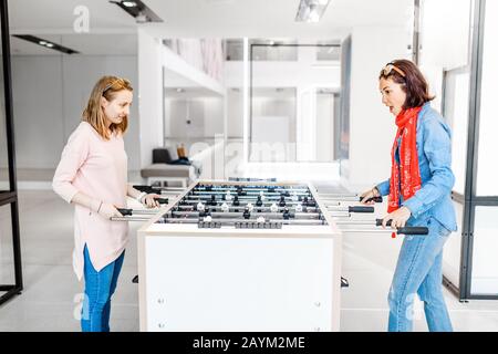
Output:
[[347,219],[374,211],[343,206],[360,201],[357,195],[323,195],[311,184],[292,181],[142,187],[162,194],[167,204],[120,209],[124,217],[115,218],[144,222],[138,230],[141,331],[340,330],[341,287],[347,282],[341,278],[339,226],[382,222]]

